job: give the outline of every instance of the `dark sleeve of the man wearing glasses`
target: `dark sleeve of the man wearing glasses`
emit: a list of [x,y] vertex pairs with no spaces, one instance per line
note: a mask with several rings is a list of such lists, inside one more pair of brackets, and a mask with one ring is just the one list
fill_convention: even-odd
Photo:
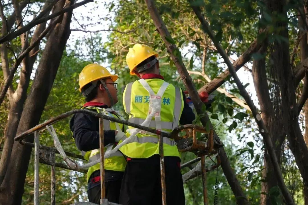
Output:
[[[70,122],[76,146],[81,151],[99,149],[99,120],[83,113],[75,114]],[[115,131],[104,131],[104,145],[115,143]]]

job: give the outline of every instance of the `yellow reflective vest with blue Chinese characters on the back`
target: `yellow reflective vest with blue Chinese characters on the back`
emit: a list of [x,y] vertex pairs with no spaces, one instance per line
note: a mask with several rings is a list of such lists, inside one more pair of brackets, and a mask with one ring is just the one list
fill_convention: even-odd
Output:
[[[179,125],[184,107],[181,89],[161,79],[140,79],[129,83],[124,89],[123,104],[129,122],[167,133]],[[138,131],[128,128],[128,136]],[[163,145],[164,156],[180,156],[173,139],[164,137]],[[159,154],[158,136],[141,130],[119,150],[130,158],[148,158]]]

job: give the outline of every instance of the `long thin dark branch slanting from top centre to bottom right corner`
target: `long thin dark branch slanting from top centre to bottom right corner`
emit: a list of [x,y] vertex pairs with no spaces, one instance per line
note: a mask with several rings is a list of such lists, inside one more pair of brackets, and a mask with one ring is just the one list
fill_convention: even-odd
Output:
[[[188,2],[192,3],[193,0],[188,0]],[[195,12],[199,21],[201,22],[203,32],[207,33],[209,35],[209,37],[212,39],[214,45],[216,46],[218,52],[220,53],[220,55],[224,59],[225,63],[227,64],[229,71],[230,71],[232,77],[234,78],[234,81],[236,82],[237,87],[240,90],[241,96],[244,97],[245,101],[247,102],[248,106],[250,107],[250,109],[253,113],[253,117],[255,118],[255,120],[257,122],[257,125],[260,129],[260,133],[263,136],[263,139],[264,139],[264,142],[265,142],[265,147],[268,150],[269,155],[270,155],[270,159],[273,163],[275,175],[276,175],[277,180],[278,180],[278,186],[280,187],[280,189],[282,191],[282,195],[284,196],[286,203],[295,205],[294,200],[292,199],[292,196],[291,196],[288,188],[286,187],[286,184],[283,181],[282,172],[280,170],[278,159],[277,159],[277,156],[276,156],[275,151],[274,151],[274,147],[273,147],[273,144],[272,144],[272,141],[271,141],[271,138],[270,138],[270,134],[267,131],[267,128],[264,124],[264,121],[262,120],[260,114],[258,113],[256,106],[253,104],[253,101],[249,97],[249,94],[245,90],[245,87],[243,86],[240,79],[238,78],[238,76],[236,74],[236,69],[233,67],[232,63],[230,62],[229,57],[225,53],[224,49],[221,47],[220,43],[216,40],[208,22],[205,20],[204,16],[201,13],[200,7],[193,6],[193,5],[191,5],[191,7],[193,8],[193,11]]]

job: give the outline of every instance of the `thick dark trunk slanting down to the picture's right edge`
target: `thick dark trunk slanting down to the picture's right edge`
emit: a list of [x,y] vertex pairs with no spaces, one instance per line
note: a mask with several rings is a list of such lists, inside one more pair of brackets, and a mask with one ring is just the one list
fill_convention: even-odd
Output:
[[[284,6],[286,1],[273,0],[269,3],[269,10],[280,16],[276,22],[278,29],[275,35],[284,39],[289,39],[287,14]],[[274,41],[273,49],[270,54],[272,70],[279,82],[281,95],[281,114],[280,123],[286,131],[290,149],[294,155],[296,164],[303,178],[304,186],[308,186],[308,149],[306,147],[301,129],[298,124],[298,106],[294,88],[294,78],[290,65],[290,52],[288,41]]]

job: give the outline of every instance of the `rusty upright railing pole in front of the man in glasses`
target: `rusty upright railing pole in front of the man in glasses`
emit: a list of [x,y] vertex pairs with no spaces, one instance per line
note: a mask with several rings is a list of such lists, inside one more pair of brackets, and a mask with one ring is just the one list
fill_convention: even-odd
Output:
[[104,164],[104,121],[99,118],[99,148],[100,148],[100,204],[103,204],[105,195],[105,164]]

